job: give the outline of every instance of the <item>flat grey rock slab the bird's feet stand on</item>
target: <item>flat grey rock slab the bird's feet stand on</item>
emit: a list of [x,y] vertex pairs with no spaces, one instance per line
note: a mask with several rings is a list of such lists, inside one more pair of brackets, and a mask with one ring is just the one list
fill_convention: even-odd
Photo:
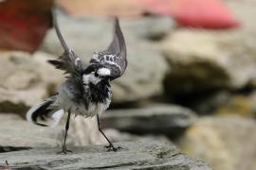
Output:
[[102,145],[72,147],[73,153],[57,154],[60,147],[25,148],[0,154],[0,165],[9,162],[10,169],[192,169],[208,170],[210,166],[195,161],[167,141],[150,138],[117,143],[118,152],[107,152]]

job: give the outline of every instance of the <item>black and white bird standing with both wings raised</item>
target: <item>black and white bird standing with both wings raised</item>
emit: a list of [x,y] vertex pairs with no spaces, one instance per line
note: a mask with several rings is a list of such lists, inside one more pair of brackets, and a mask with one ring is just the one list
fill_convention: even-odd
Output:
[[113,41],[106,50],[94,52],[88,63],[82,62],[82,59],[64,41],[54,13],[53,26],[64,53],[58,59],[51,59],[48,62],[56,69],[64,71],[65,80],[60,85],[58,93],[27,110],[27,121],[39,126],[54,127],[67,113],[64,144],[60,152],[66,154],[72,152],[66,147],[71,113],[84,118],[96,116],[99,131],[108,142],[105,146],[107,151],[118,151],[121,147],[114,146],[101,130],[100,115],[111,103],[110,83],[123,75],[128,64],[126,43],[119,26],[119,18],[115,17]]

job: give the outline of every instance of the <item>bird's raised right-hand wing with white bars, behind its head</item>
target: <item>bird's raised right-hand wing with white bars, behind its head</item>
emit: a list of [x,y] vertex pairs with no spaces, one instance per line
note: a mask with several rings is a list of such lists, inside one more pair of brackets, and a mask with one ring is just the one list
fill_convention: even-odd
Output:
[[119,19],[115,19],[115,35],[107,50],[95,53],[90,64],[101,64],[111,71],[111,80],[122,76],[126,67],[126,44],[119,26]]

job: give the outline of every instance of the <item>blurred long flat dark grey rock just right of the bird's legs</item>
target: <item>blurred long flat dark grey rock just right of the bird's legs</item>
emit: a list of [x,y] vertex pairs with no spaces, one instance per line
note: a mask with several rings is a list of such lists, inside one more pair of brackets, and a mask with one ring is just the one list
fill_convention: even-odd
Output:
[[192,126],[195,114],[179,106],[162,105],[141,109],[108,110],[102,114],[102,127],[135,134],[176,136]]

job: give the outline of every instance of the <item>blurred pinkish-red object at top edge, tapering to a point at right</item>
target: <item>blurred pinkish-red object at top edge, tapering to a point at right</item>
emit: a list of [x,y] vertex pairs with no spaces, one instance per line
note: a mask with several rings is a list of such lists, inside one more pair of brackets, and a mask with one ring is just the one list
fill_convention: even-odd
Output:
[[221,0],[132,0],[147,10],[172,15],[180,26],[230,28],[241,24]]

